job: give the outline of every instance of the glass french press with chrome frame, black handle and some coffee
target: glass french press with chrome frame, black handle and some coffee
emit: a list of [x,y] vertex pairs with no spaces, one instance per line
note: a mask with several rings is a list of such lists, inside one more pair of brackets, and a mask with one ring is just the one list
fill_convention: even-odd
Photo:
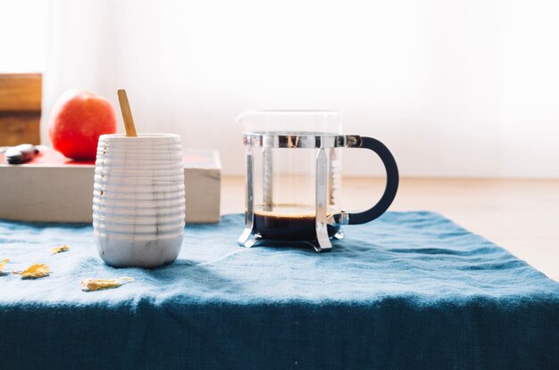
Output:
[[[396,196],[398,169],[388,148],[372,137],[343,135],[335,111],[245,113],[245,231],[238,244],[259,241],[310,243],[330,251],[330,238],[343,239],[342,225],[364,224],[384,213]],[[339,203],[343,148],[376,152],[387,172],[380,201],[362,212]]]

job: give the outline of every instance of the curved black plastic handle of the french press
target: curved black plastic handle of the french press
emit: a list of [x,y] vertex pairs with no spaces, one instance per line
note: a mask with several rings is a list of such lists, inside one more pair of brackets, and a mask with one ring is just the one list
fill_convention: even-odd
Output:
[[382,194],[380,201],[369,210],[349,214],[349,225],[367,223],[375,218],[378,218],[386,210],[388,210],[388,207],[390,207],[390,204],[392,204],[392,201],[394,201],[394,198],[396,197],[398,183],[400,180],[396,160],[394,159],[392,153],[388,151],[385,144],[380,143],[379,140],[373,139],[372,137],[361,136],[361,145],[355,146],[355,148],[370,149],[372,152],[376,152],[379,155],[380,160],[382,160],[382,163],[384,164],[384,168],[387,170],[387,186],[384,189],[384,193]]

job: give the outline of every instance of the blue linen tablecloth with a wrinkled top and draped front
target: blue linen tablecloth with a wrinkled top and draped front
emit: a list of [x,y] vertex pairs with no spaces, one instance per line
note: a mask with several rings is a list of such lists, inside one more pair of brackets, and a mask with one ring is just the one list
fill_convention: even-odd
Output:
[[187,226],[144,270],[104,265],[89,225],[0,221],[4,272],[51,267],[0,276],[0,368],[559,368],[559,284],[436,213],[346,226],[322,254],[238,247],[243,222]]

